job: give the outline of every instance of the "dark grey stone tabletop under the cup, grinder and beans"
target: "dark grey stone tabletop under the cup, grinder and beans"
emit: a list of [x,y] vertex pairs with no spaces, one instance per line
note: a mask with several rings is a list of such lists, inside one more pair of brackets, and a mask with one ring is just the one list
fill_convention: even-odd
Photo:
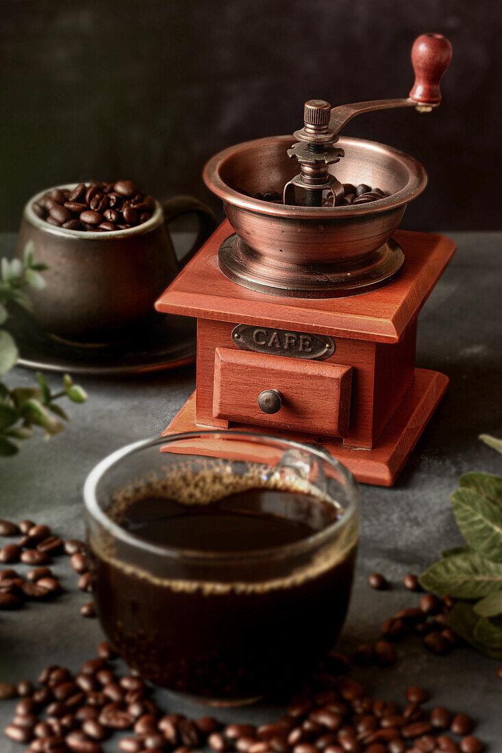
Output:
[[[424,306],[418,325],[418,365],[448,374],[451,383],[403,474],[393,489],[362,486],[363,510],[357,577],[350,611],[339,640],[350,653],[378,639],[385,617],[418,596],[404,590],[407,572],[421,572],[446,547],[461,542],[448,495],[465,471],[502,471],[502,458],[478,440],[502,436],[502,233],[455,233],[458,252]],[[5,244],[4,244],[5,245]],[[51,385],[60,377],[50,375]],[[28,386],[34,374],[17,368],[8,383]],[[140,437],[159,434],[194,389],[194,368],[144,377],[79,379],[89,394],[84,406],[69,405],[72,422],[49,442],[32,439],[13,459],[0,460],[0,517],[29,517],[48,523],[66,538],[84,535],[81,489],[99,459]],[[24,569],[24,566],[23,566]],[[388,592],[370,589],[366,579],[379,571],[393,582]],[[78,669],[103,639],[96,620],[79,607],[86,596],[76,588],[68,558],[55,572],[66,593],[48,604],[0,613],[0,679],[36,678],[47,664]],[[502,751],[502,681],[497,662],[461,648],[433,657],[418,639],[398,644],[392,669],[360,669],[357,676],[388,700],[404,700],[409,684],[424,684],[431,703],[472,713],[478,731]],[[292,657],[293,659],[293,657]],[[158,700],[171,710],[204,715],[165,691]],[[2,727],[14,702],[0,703]],[[269,720],[270,706],[219,712],[222,719]],[[117,740],[105,745],[117,751]],[[22,746],[0,740],[2,753]]]

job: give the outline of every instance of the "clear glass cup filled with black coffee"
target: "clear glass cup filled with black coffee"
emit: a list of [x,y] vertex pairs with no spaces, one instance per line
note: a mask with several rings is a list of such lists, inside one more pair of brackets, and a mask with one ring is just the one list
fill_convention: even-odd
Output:
[[335,643],[359,492],[322,450],[237,431],[139,441],[93,469],[84,501],[97,614],[142,677],[237,706]]

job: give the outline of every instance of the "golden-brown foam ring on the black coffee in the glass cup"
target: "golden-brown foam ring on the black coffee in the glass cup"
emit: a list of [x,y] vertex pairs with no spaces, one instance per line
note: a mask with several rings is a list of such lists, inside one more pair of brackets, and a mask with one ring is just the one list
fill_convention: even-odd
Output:
[[[130,506],[146,499],[166,498],[173,499],[182,505],[210,505],[229,495],[249,489],[276,489],[320,498],[332,504],[340,513],[343,512],[343,509],[335,500],[320,492],[320,489],[317,489],[308,480],[298,477],[295,471],[287,466],[271,468],[268,465],[246,462],[246,473],[236,474],[228,462],[223,463],[207,459],[197,460],[197,465],[200,466],[200,470],[198,471],[194,471],[193,465],[193,462],[180,462],[176,465],[176,468],[163,468],[162,470],[165,475],[162,477],[159,477],[158,471],[149,471],[141,477],[136,477],[109,496],[109,503],[103,508],[103,511],[110,520],[120,526]],[[124,529],[124,531],[128,535],[131,535],[127,532],[127,529]],[[316,534],[322,534],[322,531],[316,532]],[[178,578],[161,578],[152,572],[142,569],[141,566],[137,566],[136,564],[131,565],[120,559],[116,551],[115,538],[106,529],[103,529],[99,523],[97,525],[96,523],[91,524],[89,543],[96,556],[109,562],[110,565],[121,569],[127,575],[145,579],[158,586],[170,588],[173,591],[184,591],[187,593],[199,591],[207,595],[265,593],[270,590],[298,586],[312,578],[317,578],[323,572],[335,567],[338,562],[346,559],[351,550],[354,550],[357,545],[357,516],[353,516],[345,524],[334,540],[326,541],[320,545],[311,555],[308,563],[293,568],[289,575],[269,578],[265,581],[231,581],[226,583],[210,581],[210,579],[207,581],[191,581]],[[298,546],[301,543],[301,541],[298,541],[293,546]],[[155,544],[155,546],[158,546],[158,544]],[[291,544],[286,545],[284,548],[287,549],[289,546]],[[237,553],[237,555],[240,554],[240,552]],[[206,562],[204,562],[204,559],[201,559],[200,562],[197,562],[197,566],[194,567],[203,566],[206,569],[210,569],[212,560],[210,553],[208,555]],[[157,555],[152,554],[152,556]],[[227,556],[228,553],[225,552],[225,557]],[[286,558],[287,556],[286,554]],[[293,556],[298,557],[298,555]],[[218,553],[216,552],[215,559],[217,560],[217,558]],[[249,559],[253,559],[252,550],[249,550]],[[274,555],[271,561],[275,559],[276,556]],[[262,553],[259,553],[259,561],[264,561]],[[239,567],[242,562],[242,559],[232,562],[231,556],[228,557],[229,568]],[[221,560],[219,564],[221,566]]]

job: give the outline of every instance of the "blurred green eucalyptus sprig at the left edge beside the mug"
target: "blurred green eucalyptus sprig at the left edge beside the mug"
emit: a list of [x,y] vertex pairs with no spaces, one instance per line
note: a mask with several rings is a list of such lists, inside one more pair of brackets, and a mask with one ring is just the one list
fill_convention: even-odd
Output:
[[[2,258],[0,261],[0,325],[8,319],[8,304],[17,303],[25,309],[31,308],[29,297],[23,291],[26,286],[41,290],[44,279],[41,272],[47,265],[35,262],[32,242],[26,244],[23,261]],[[14,337],[0,328],[0,377],[16,364],[19,356]],[[41,372],[37,373],[38,387],[15,387],[9,389],[0,382],[0,456],[15,455],[20,444],[32,437],[33,428],[40,426],[45,437],[51,437],[63,430],[63,421],[68,416],[56,401],[66,396],[74,403],[87,399],[84,390],[73,383],[68,374],[63,377],[63,389],[52,393]],[[63,419],[60,420],[60,419]]]

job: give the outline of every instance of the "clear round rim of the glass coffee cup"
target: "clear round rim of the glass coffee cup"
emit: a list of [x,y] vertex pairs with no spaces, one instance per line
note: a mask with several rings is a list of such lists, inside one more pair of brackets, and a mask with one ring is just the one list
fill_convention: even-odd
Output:
[[[347,497],[348,503],[344,508],[341,516],[334,523],[330,523],[326,528],[316,531],[311,535],[302,538],[300,541],[295,541],[292,544],[279,544],[274,547],[268,547],[266,549],[250,549],[245,551],[210,551],[210,550],[194,550],[184,549],[182,547],[163,546],[161,544],[152,544],[145,539],[136,536],[133,532],[127,531],[122,528],[118,523],[115,523],[99,506],[99,502],[96,497],[96,488],[99,481],[103,478],[107,471],[117,465],[121,460],[128,455],[138,453],[147,447],[155,447],[155,445],[174,444],[177,441],[183,441],[186,439],[194,439],[198,437],[218,437],[228,438],[232,437],[246,438],[247,440],[262,440],[268,442],[274,442],[280,445],[287,446],[291,449],[306,450],[313,456],[323,462],[329,463],[333,468],[338,471],[344,480],[347,482]],[[311,547],[322,545],[324,541],[329,539],[339,529],[343,529],[347,526],[347,523],[357,513],[360,505],[360,490],[354,479],[353,474],[345,468],[345,466],[336,458],[333,458],[329,453],[318,450],[316,447],[311,447],[308,444],[302,444],[293,440],[283,439],[283,437],[274,437],[270,434],[256,434],[249,431],[233,431],[233,430],[204,430],[204,431],[184,431],[179,434],[169,434],[165,437],[148,437],[136,442],[131,442],[123,447],[120,447],[115,452],[110,453],[105,458],[99,461],[97,465],[90,471],[84,483],[84,506],[87,514],[90,515],[96,522],[102,525],[108,530],[115,538],[120,539],[124,544],[143,550],[146,553],[153,554],[155,556],[171,557],[173,559],[179,559],[190,562],[225,562],[225,561],[246,561],[254,562],[262,559],[270,559],[271,557],[277,559],[283,556],[295,556],[309,550]]]

